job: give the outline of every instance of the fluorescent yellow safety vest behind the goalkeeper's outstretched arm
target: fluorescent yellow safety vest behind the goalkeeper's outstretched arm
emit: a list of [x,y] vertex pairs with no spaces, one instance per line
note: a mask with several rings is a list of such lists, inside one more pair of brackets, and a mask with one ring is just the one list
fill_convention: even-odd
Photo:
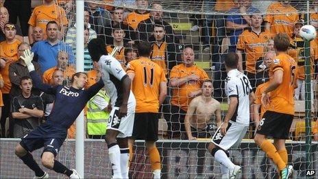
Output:
[[110,116],[109,112],[105,110],[101,110],[98,108],[96,104],[94,104],[93,100],[95,97],[102,97],[106,100],[106,102],[110,101],[110,97],[106,95],[106,92],[100,90],[94,97],[92,97],[87,102],[87,132],[88,135],[105,135],[106,134],[106,125],[108,123],[108,119]]

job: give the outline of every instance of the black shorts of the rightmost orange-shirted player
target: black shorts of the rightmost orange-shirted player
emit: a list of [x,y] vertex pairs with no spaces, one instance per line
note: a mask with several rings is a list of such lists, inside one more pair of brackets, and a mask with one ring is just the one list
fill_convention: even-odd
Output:
[[256,133],[272,136],[273,139],[289,139],[293,118],[293,115],[267,110],[260,119]]

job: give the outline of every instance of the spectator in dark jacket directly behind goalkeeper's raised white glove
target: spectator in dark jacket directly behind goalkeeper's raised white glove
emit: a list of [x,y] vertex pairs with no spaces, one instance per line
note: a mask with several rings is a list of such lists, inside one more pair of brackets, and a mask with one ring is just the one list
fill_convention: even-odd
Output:
[[[25,64],[24,60],[21,58],[21,56],[24,56],[23,52],[26,49],[31,49],[28,43],[21,43],[18,45],[18,56],[19,60],[16,62],[13,62],[9,66],[9,78],[10,82],[12,84],[10,89],[10,95],[11,97],[16,97],[18,95],[21,95],[21,77],[31,77],[29,75],[29,71],[27,70],[27,65]],[[41,74],[40,64],[38,62],[35,62],[32,60],[32,64],[34,64],[34,69],[38,75]],[[32,88],[32,93],[34,95],[40,95],[40,91],[36,90],[36,88]]]

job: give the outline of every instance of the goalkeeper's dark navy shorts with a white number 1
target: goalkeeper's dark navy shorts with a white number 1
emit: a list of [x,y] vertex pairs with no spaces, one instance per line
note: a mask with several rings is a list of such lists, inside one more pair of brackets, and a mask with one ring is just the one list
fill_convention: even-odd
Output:
[[56,156],[66,136],[67,129],[61,129],[44,123],[23,136],[20,145],[29,152],[44,147],[43,152],[51,152]]

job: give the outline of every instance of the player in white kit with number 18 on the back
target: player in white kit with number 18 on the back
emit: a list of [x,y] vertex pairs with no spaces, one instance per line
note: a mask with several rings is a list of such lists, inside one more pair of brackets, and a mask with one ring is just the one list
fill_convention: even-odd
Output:
[[249,106],[253,104],[255,95],[246,75],[237,70],[237,54],[228,53],[224,63],[228,72],[225,92],[229,108],[208,146],[208,151],[221,164],[222,178],[236,178],[241,172],[241,167],[231,162],[227,150],[238,147],[245,136],[249,127]]

